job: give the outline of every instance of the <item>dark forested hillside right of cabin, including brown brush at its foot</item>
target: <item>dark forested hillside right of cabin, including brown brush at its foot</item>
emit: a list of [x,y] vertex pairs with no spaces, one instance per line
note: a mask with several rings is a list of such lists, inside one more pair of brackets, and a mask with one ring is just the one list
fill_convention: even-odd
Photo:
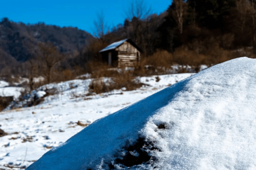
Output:
[[100,34],[92,45],[100,49],[99,44],[104,47],[131,37],[144,50],[148,59],[144,62],[151,65],[212,65],[245,55],[255,57],[256,0],[173,0],[160,15],[140,4],[131,3],[124,24]]

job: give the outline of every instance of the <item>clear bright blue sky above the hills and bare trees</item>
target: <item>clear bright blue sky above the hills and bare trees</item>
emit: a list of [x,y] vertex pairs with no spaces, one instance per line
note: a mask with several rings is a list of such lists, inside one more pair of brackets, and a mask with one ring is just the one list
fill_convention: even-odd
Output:
[[[171,0],[144,0],[154,13],[168,8]],[[3,0],[0,18],[25,24],[44,22],[58,26],[73,26],[92,33],[96,14],[102,10],[111,27],[123,24],[125,7],[131,0]]]

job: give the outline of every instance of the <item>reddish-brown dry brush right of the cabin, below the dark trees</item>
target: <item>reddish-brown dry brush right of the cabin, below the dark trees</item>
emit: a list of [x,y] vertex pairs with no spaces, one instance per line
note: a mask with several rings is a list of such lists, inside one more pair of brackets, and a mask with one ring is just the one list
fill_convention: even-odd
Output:
[[[231,50],[234,35],[227,34],[219,37],[209,37],[195,40],[175,49],[174,53],[166,50],[156,50],[141,61],[138,75],[158,75],[168,73],[172,65],[191,66],[195,72],[199,71],[202,64],[215,65],[234,58],[247,56],[256,58],[253,49],[243,48]],[[146,66],[146,69],[145,69]],[[187,68],[181,67],[178,73],[187,73]]]

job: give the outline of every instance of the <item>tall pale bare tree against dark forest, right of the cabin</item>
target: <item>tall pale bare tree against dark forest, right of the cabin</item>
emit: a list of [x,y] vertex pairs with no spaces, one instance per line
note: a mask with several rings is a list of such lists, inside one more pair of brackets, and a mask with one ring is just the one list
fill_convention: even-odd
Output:
[[172,9],[173,17],[178,24],[180,33],[183,32],[183,22],[187,15],[187,3],[183,0],[173,0],[174,9]]

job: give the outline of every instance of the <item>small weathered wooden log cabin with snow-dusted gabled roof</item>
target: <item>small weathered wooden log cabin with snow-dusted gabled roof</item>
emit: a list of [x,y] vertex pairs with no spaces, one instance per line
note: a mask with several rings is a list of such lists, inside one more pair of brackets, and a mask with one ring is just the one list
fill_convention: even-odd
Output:
[[100,50],[103,61],[112,67],[137,67],[140,62],[141,49],[131,41],[124,39],[113,42]]

